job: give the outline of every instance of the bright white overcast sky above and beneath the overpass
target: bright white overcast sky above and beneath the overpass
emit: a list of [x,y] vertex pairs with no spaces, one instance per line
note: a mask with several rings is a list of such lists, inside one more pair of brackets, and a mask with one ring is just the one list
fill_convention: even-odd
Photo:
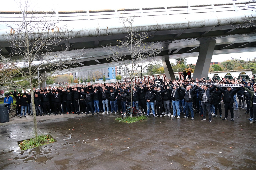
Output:
[[[24,0],[19,0],[24,2]],[[30,0],[31,1],[31,0]],[[120,9],[120,8],[141,8],[141,7],[165,7],[165,6],[183,6],[183,5],[202,5],[202,4],[218,4],[218,3],[233,3],[233,2],[244,2],[244,0],[147,0],[141,1],[138,3],[137,0],[129,0],[129,1],[89,1],[89,0],[54,0],[54,1],[31,1],[31,7],[35,7],[36,10],[42,11],[72,11],[72,10],[96,10],[96,9]],[[15,0],[1,1],[0,11],[18,11],[19,6],[15,2]],[[212,62],[222,62],[225,60],[231,60],[232,57],[246,60],[254,59],[256,56],[255,52],[248,53],[233,53],[233,54],[221,54],[212,56]],[[187,58],[188,64],[196,64],[198,57],[190,57]],[[175,60],[171,60],[171,62],[175,63]]]

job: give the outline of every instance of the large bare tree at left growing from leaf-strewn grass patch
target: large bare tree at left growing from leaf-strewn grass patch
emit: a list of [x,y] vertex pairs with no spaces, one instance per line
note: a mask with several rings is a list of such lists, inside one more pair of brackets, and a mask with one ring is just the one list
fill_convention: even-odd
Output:
[[[44,82],[53,73],[61,69],[68,69],[76,63],[79,58],[63,54],[67,50],[62,46],[63,41],[72,38],[67,37],[68,31],[65,26],[58,27],[57,21],[52,19],[51,12],[37,12],[35,7],[31,7],[27,0],[18,2],[20,7],[21,18],[19,22],[10,25],[5,23],[11,31],[9,35],[1,35],[5,38],[12,50],[10,57],[7,58],[0,53],[1,63],[8,67],[15,68],[17,73],[15,75],[6,72],[5,80],[23,89],[26,87],[20,85],[16,79],[22,79],[29,82],[29,87],[38,87],[40,83]],[[53,21],[52,21],[53,20]],[[54,52],[54,48],[58,48],[60,52]],[[18,59],[17,59],[18,58]],[[15,77],[14,77],[15,76]],[[31,91],[31,101],[33,113],[35,113],[34,95]],[[34,135],[38,136],[38,128],[36,123],[36,114],[33,114],[34,121]]]

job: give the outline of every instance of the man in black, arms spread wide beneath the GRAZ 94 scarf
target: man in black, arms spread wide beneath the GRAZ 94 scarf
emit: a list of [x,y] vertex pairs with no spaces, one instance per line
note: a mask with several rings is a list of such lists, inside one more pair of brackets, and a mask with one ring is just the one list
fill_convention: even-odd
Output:
[[234,94],[241,88],[231,90],[231,87],[227,87],[227,90],[223,90],[221,87],[217,87],[223,93],[223,103],[225,108],[225,117],[222,120],[227,120],[228,110],[230,110],[231,121],[234,122]]

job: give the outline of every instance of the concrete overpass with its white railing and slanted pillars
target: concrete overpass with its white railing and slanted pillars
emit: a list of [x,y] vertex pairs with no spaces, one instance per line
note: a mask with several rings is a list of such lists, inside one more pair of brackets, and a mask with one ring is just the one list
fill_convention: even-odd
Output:
[[[193,78],[200,78],[207,76],[212,55],[255,50],[256,27],[237,27],[238,24],[245,25],[246,20],[255,20],[255,3],[251,1],[223,0],[221,4],[207,1],[200,5],[191,1],[185,6],[159,5],[153,8],[135,6],[132,9],[57,11],[49,14],[49,17],[52,15],[52,20],[72,30],[70,36],[73,38],[62,44],[71,47],[71,50],[63,54],[75,55],[77,49],[82,48],[87,51],[73,71],[110,65],[106,60],[110,53],[102,47],[110,43],[115,45],[117,40],[127,35],[119,17],[135,16],[138,30],[153,35],[145,42],[158,42],[164,48],[156,60],[163,61],[166,77],[172,79],[175,76],[170,59],[198,56]],[[44,16],[41,13],[36,15]],[[20,13],[2,11],[0,17],[1,22],[8,22],[15,29],[14,23],[19,22]],[[11,49],[6,39],[10,36],[10,28],[0,28],[0,53],[9,57]]]

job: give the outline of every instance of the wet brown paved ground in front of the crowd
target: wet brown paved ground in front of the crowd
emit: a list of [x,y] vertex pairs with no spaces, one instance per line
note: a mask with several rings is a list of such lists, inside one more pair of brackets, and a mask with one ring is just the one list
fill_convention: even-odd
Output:
[[16,116],[0,123],[0,169],[256,169],[256,124],[245,111],[234,122],[230,114],[130,124],[115,114],[37,116],[39,134],[57,142],[25,151],[17,142],[31,138],[33,118]]

